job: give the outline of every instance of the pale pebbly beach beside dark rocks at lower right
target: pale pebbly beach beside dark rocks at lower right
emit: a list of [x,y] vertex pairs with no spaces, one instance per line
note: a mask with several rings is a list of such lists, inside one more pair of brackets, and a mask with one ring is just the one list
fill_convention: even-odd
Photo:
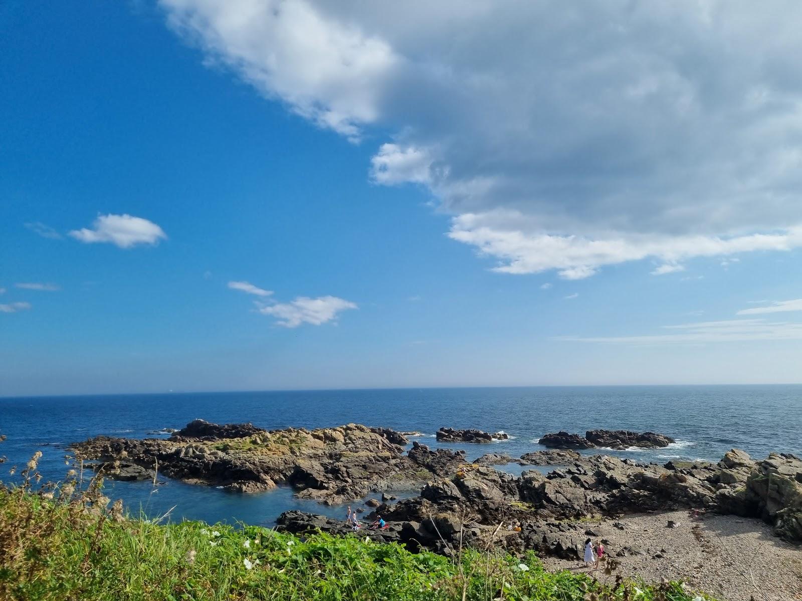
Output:
[[[676,527],[667,527],[668,520]],[[612,520],[585,526],[597,533],[590,537],[594,543],[610,540],[607,553],[621,561],[623,575],[654,583],[662,577],[683,580],[721,601],[802,600],[802,547],[783,543],[764,522],[715,514],[691,518],[685,511],[632,515],[618,522],[623,530]],[[640,547],[642,555],[616,557],[627,546]],[[553,570],[586,570],[584,564],[562,559],[544,563]],[[602,569],[593,573],[602,581],[613,579]]]

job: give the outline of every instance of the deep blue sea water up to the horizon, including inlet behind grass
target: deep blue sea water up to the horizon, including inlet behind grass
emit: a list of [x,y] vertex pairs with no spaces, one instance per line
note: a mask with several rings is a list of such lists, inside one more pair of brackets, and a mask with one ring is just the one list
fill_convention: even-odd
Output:
[[[504,430],[510,440],[488,445],[444,444],[468,458],[487,452],[512,457],[541,450],[537,438],[568,430],[652,430],[677,439],[658,450],[605,451],[642,462],[718,460],[729,449],[753,457],[771,451],[802,454],[802,385],[600,386],[454,389],[316,390],[246,393],[132,394],[85,397],[0,398],[0,480],[10,466],[24,466],[43,452],[40,471],[57,481],[69,466],[67,446],[97,434],[147,438],[164,427],[180,428],[196,417],[209,422],[253,422],[267,429],[317,428],[349,422],[416,430],[418,440],[440,446],[441,426]],[[520,473],[520,466],[499,466]],[[526,468],[529,469],[529,468]],[[294,498],[286,488],[233,494],[209,486],[167,481],[108,482],[107,494],[129,510],[151,516],[171,510],[172,519],[242,521],[272,525],[284,510],[298,508],[342,515],[342,507]]]

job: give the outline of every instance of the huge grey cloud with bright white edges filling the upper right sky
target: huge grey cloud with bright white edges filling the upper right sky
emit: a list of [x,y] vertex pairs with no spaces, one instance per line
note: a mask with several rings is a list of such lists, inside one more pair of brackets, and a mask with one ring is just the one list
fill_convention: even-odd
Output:
[[497,271],[802,246],[794,0],[160,4],[207,63],[371,139],[371,179],[427,187]]

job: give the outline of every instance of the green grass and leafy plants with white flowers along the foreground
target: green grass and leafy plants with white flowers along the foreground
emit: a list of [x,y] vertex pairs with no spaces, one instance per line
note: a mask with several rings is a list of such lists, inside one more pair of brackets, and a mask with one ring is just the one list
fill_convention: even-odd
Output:
[[[161,523],[109,507],[99,478],[0,486],[0,599],[48,601],[693,601],[678,583],[545,571],[529,553],[411,553],[358,534],[298,538],[259,526]],[[703,599],[703,598],[699,598]]]

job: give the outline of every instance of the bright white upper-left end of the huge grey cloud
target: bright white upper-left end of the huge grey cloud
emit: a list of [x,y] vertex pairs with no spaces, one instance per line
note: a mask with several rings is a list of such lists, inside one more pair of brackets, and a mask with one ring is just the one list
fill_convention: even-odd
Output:
[[358,140],[379,119],[389,44],[303,0],[161,0],[174,30],[270,99]]

